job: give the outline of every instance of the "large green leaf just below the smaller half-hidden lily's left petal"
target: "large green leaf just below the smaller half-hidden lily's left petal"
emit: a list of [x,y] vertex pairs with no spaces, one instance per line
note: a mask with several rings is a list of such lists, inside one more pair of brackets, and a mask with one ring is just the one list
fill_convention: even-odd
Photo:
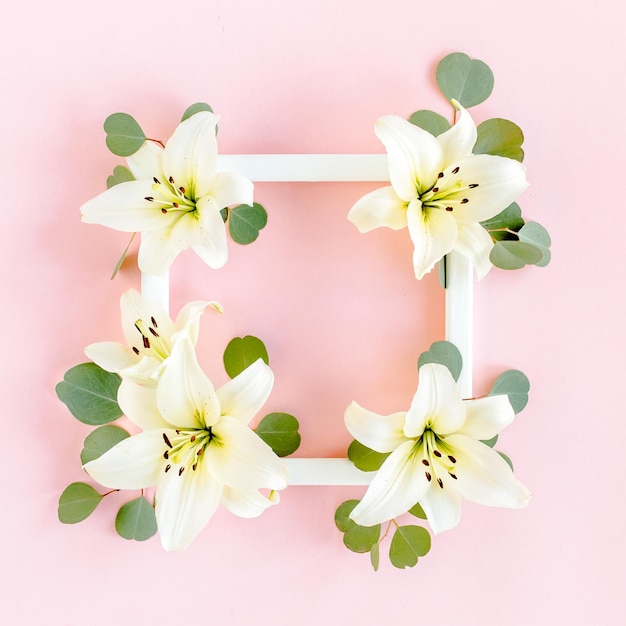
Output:
[[82,363],[65,372],[56,386],[61,402],[83,424],[100,426],[121,417],[117,390],[121,379],[95,363]]

